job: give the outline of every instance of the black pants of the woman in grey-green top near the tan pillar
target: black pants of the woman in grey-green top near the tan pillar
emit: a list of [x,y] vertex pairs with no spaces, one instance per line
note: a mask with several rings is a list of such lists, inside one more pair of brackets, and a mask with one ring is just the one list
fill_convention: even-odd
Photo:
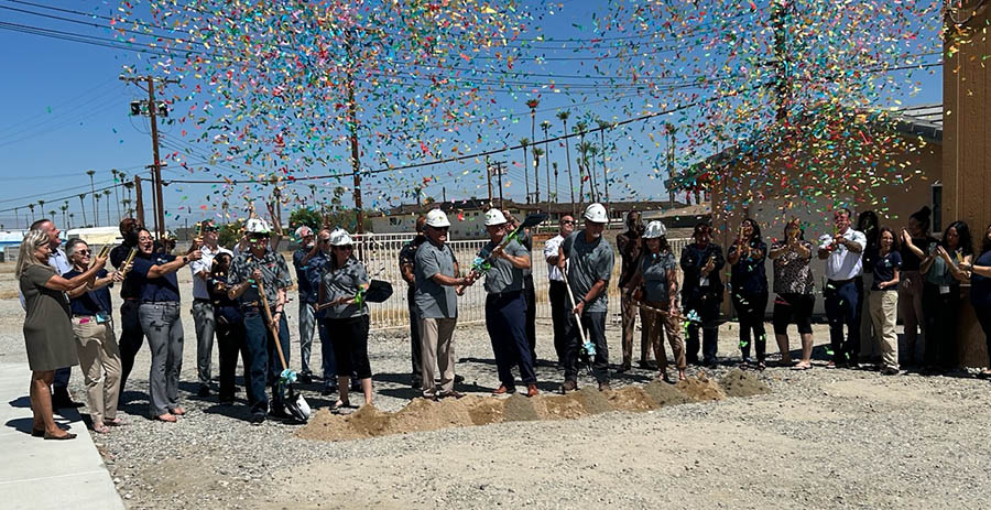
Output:
[[954,368],[957,366],[957,310],[960,307],[960,286],[949,285],[949,292],[939,292],[939,285],[926,282],[923,287],[923,310],[926,311],[926,366]]

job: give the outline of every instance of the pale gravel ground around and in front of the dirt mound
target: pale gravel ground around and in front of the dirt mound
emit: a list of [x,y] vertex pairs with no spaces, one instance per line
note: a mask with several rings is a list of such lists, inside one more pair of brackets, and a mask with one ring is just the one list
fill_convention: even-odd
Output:
[[[0,292],[12,287],[2,273]],[[25,360],[22,319],[15,299],[0,301],[0,361]],[[331,443],[298,438],[297,426],[277,422],[251,426],[242,400],[225,408],[216,395],[197,398],[189,314],[184,328],[188,415],[177,424],[145,417],[144,348],[123,406],[129,424],[96,437],[130,508],[976,508],[991,497],[991,447],[983,441],[991,435],[991,397],[987,381],[966,373],[769,368],[760,375],[772,389],[766,395]],[[618,327],[608,335],[617,360]],[[734,337],[734,325],[723,325],[720,352],[729,362],[739,356]],[[816,338],[823,356],[821,325]],[[494,388],[484,327],[459,327],[456,345],[457,371],[466,378],[460,389]],[[537,350],[552,357],[549,324],[538,324]],[[370,339],[382,410],[399,410],[415,394],[407,352],[404,332]],[[297,345],[292,357],[298,368]],[[313,363],[319,366],[318,343]],[[634,370],[613,383],[653,376]],[[553,367],[540,368],[538,377],[544,391],[560,382]],[[80,384],[77,369],[77,399],[85,395]],[[304,389],[315,408],[334,398],[320,397],[318,384]]]

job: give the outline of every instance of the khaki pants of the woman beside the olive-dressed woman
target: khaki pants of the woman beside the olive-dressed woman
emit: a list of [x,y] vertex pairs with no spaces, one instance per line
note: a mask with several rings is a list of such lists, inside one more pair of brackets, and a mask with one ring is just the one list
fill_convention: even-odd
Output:
[[92,317],[73,317],[73,333],[92,423],[111,421],[117,417],[120,395],[120,348],[112,323],[97,324]]

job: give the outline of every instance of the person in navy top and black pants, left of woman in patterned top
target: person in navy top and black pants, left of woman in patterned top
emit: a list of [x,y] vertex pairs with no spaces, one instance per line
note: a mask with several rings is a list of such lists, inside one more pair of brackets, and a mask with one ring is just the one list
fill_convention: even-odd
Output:
[[750,333],[756,343],[758,368],[764,369],[767,335],[764,333],[764,311],[767,308],[767,275],[764,259],[767,245],[761,240],[761,227],[747,218],[740,224],[740,234],[730,246],[726,261],[732,265],[730,274],[733,307],[740,317],[740,351],[743,365],[751,365]]

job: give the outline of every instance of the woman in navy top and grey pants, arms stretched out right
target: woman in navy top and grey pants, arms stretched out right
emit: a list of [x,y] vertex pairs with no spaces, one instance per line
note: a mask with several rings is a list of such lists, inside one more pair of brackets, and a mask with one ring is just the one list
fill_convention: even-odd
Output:
[[148,376],[151,416],[174,423],[186,414],[178,404],[178,378],[183,367],[183,321],[179,317],[179,289],[175,272],[203,252],[195,242],[182,257],[156,253],[154,239],[145,229],[138,231],[138,256],[128,279],[140,289],[138,321],[148,337],[152,362]]

